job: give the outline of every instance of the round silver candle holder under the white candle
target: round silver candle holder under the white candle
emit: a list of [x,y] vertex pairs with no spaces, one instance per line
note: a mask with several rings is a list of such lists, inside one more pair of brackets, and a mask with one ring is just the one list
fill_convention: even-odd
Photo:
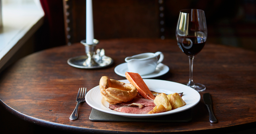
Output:
[[93,39],[93,44],[87,44],[86,40],[80,42],[85,46],[85,53],[87,55],[72,57],[67,60],[70,66],[77,68],[102,68],[107,67],[113,63],[111,57],[105,56],[104,49],[97,49],[95,53],[95,47],[99,44],[97,39]]

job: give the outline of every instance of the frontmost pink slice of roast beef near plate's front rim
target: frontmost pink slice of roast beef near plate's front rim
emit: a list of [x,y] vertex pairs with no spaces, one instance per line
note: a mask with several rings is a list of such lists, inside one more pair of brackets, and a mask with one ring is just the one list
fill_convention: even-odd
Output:
[[145,106],[143,108],[138,108],[138,106],[121,106],[114,111],[125,112],[129,114],[148,114],[155,106]]

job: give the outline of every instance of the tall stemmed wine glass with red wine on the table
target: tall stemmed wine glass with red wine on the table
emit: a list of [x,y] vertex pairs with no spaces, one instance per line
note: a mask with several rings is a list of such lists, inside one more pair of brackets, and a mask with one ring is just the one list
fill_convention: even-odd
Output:
[[206,18],[203,10],[180,10],[176,28],[176,39],[179,48],[189,56],[189,82],[186,84],[198,92],[206,90],[206,87],[193,81],[193,60],[204,47],[207,38]]

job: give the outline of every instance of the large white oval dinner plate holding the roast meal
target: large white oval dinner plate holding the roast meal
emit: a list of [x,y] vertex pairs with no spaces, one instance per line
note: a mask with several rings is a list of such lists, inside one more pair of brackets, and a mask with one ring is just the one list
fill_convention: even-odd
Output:
[[[171,111],[161,112],[157,114],[127,114],[123,112],[117,112],[108,108],[109,103],[102,98],[100,94],[99,86],[94,87],[86,94],[85,101],[92,108],[97,109],[99,111],[107,112],[109,114],[114,114],[114,115],[132,117],[132,118],[149,118],[149,117],[157,117],[157,116],[174,114],[177,112],[190,109],[200,101],[200,94],[189,86],[171,82],[171,81],[165,81],[165,80],[154,80],[154,79],[143,79],[143,80],[147,84],[149,90],[151,91],[162,92],[166,94],[183,92],[182,99],[186,102],[186,105]],[[119,81],[124,83],[130,83],[128,80],[119,80]]]

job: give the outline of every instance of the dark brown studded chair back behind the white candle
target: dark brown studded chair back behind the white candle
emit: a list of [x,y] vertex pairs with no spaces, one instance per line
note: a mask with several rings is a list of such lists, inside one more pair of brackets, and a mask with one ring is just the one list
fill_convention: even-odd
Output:
[[[93,0],[94,38],[160,38],[161,4],[161,0]],[[86,37],[86,0],[63,0],[63,7],[66,42],[80,42]]]

